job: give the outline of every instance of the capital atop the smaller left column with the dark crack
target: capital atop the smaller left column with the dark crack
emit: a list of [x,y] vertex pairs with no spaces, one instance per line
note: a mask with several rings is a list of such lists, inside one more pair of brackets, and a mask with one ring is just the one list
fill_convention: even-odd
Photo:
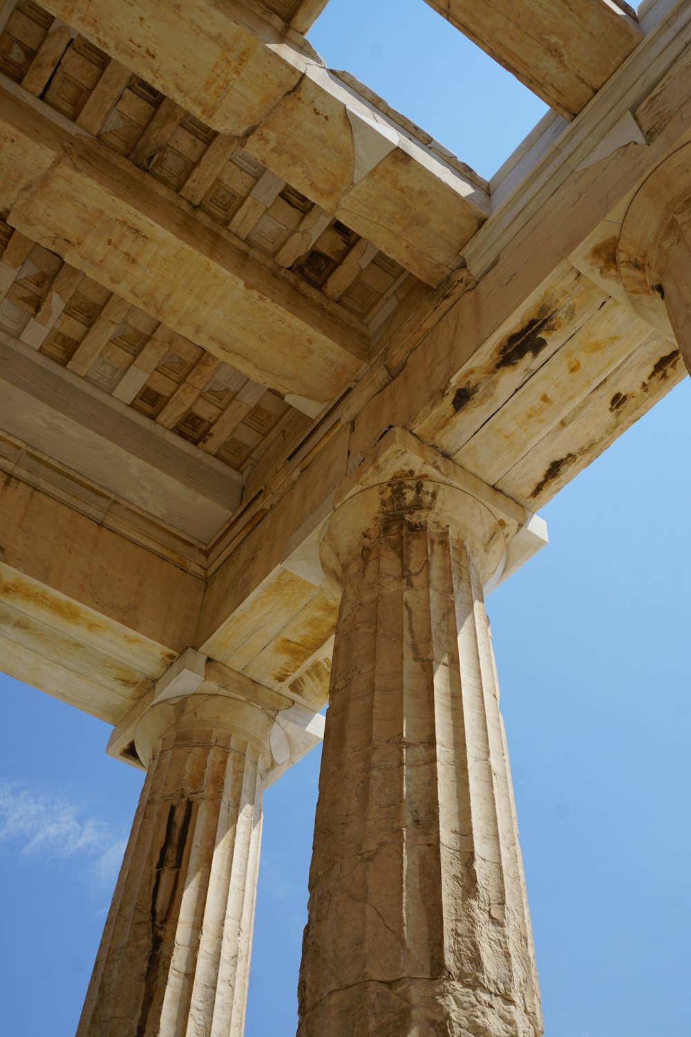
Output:
[[[235,739],[272,784],[323,738],[324,719],[188,648],[115,727],[111,756],[147,769],[166,737]],[[241,746],[240,746],[241,742]]]

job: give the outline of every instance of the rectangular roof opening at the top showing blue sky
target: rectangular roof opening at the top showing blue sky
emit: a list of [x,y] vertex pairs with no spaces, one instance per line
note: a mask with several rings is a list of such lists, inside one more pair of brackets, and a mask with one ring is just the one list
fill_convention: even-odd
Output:
[[548,111],[424,0],[329,0],[309,38],[486,178]]

